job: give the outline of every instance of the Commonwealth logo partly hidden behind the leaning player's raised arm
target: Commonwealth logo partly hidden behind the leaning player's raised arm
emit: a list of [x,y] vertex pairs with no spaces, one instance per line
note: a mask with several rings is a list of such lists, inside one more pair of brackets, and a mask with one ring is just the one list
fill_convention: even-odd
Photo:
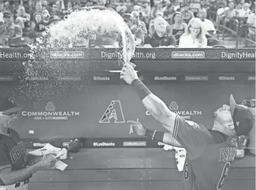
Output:
[[[173,111],[176,114],[179,114],[184,119],[190,119],[190,116],[201,116],[203,111],[201,110],[179,110],[179,105],[177,105],[176,101],[172,101],[168,106],[170,111]],[[150,116],[151,113],[146,111],[146,115]]]

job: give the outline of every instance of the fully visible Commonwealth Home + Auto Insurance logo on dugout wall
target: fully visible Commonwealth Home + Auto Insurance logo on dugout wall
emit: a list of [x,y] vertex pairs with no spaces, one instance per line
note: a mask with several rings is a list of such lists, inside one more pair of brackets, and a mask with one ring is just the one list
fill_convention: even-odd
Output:
[[22,111],[22,116],[33,116],[35,120],[68,120],[69,116],[79,116],[79,111],[55,111],[55,105],[49,101],[45,111]]

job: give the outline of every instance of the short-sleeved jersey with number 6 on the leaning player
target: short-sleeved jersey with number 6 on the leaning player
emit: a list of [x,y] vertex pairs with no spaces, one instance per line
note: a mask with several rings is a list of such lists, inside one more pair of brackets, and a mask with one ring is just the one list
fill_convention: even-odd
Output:
[[220,190],[236,156],[232,137],[177,115],[174,138],[187,150],[182,189]]

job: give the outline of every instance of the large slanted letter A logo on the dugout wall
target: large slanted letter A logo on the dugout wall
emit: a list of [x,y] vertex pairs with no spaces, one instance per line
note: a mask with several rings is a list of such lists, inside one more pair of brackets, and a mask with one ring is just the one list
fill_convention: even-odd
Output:
[[125,123],[120,100],[111,101],[107,110],[100,119],[100,123]]

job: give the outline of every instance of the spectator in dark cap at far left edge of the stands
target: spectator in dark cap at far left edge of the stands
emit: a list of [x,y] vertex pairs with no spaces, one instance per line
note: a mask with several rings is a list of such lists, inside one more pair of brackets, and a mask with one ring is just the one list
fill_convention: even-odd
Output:
[[0,44],[11,38],[22,37],[22,28],[14,24],[14,16],[11,12],[4,12],[4,24],[0,26]]

